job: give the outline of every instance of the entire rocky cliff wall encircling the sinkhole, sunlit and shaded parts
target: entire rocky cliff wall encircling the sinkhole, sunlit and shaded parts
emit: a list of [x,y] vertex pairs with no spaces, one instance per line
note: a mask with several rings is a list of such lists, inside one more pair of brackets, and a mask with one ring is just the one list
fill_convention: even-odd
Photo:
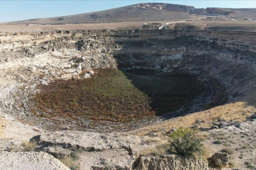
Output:
[[219,94],[216,104],[238,100],[255,89],[255,38],[255,32],[209,30],[0,33],[1,107],[24,111],[29,106],[15,101],[34,93],[35,84],[88,77],[97,67],[185,71],[205,84],[218,82],[217,89],[209,86],[216,91],[210,98],[218,92],[226,98]]

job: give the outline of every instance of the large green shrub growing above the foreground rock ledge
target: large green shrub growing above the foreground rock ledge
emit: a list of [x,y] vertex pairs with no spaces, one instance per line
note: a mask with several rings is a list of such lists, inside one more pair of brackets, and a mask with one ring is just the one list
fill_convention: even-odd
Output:
[[184,156],[193,156],[193,154],[202,156],[204,144],[201,142],[202,139],[197,137],[195,130],[180,127],[176,132],[171,133],[168,152]]

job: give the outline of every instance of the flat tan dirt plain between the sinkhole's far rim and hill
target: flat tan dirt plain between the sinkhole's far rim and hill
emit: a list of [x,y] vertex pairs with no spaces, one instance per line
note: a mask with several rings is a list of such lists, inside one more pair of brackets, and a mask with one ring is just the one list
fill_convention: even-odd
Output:
[[[172,21],[131,21],[116,23],[83,23],[70,25],[4,25],[0,24],[0,32],[38,32],[54,30],[135,30],[142,29],[145,23],[161,23],[164,25]],[[191,26],[200,30],[240,30],[256,31],[256,21],[195,21],[187,20],[184,23],[176,23],[176,29],[187,29]],[[174,28],[175,29],[175,28]]]

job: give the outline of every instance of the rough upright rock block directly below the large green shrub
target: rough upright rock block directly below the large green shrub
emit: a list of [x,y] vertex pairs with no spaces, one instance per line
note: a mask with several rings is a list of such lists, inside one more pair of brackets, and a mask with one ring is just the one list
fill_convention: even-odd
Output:
[[138,169],[143,170],[160,170],[160,169],[179,169],[179,170],[207,170],[208,164],[202,159],[187,159],[177,155],[163,155],[159,157],[149,156],[149,157],[141,157],[140,162],[138,164]]

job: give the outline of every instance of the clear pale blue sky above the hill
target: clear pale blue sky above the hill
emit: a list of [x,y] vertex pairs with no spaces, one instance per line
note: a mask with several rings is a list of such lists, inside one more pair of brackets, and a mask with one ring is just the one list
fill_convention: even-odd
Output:
[[[28,20],[34,18],[49,18],[54,16],[64,16],[70,14],[90,13],[94,11],[102,11],[111,8],[118,8],[121,6],[128,6],[138,3],[169,3],[169,4],[185,4],[195,6],[195,8],[256,8],[256,1],[51,1],[51,0],[16,0],[3,1],[0,0],[0,22]],[[0,30],[1,31],[1,30]]]

